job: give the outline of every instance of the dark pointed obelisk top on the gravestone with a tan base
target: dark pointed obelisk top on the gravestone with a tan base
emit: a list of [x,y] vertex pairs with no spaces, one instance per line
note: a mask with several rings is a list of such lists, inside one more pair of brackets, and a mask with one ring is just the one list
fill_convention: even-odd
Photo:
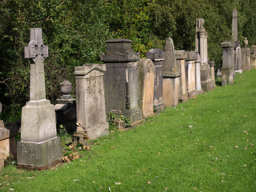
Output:
[[180,69],[176,62],[174,42],[171,38],[166,39],[164,48],[165,60],[162,64],[162,73],[164,77],[176,77],[180,75]]

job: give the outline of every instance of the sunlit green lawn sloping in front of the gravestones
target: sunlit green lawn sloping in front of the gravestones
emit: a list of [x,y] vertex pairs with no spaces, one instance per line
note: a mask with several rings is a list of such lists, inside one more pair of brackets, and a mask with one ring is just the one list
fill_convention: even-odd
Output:
[[6,166],[0,190],[256,191],[255,83],[256,70],[245,71],[232,85],[98,139],[90,161],[43,171]]

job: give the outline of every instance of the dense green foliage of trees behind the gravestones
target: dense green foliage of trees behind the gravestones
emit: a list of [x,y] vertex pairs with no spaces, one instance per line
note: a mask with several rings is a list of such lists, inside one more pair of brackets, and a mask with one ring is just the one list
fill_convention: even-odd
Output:
[[[208,57],[222,65],[221,42],[231,40],[232,10],[238,10],[238,41],[256,43],[254,0],[3,0],[0,2],[0,118],[14,121],[29,100],[30,62],[24,46],[30,28],[41,27],[49,46],[46,97],[55,102],[59,83],[74,83],[74,66],[99,62],[109,38],[130,38],[141,58],[174,40],[175,50],[194,50],[196,18],[204,18]],[[241,43],[243,44],[243,43]],[[75,88],[75,86],[74,86]],[[75,89],[73,94],[75,94]]]

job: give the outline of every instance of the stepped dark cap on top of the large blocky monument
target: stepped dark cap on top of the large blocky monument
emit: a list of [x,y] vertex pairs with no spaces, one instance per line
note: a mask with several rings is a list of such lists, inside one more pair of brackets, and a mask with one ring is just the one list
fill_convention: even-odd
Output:
[[130,39],[115,38],[106,41],[106,54],[101,54],[102,62],[137,62],[139,53],[130,48]]

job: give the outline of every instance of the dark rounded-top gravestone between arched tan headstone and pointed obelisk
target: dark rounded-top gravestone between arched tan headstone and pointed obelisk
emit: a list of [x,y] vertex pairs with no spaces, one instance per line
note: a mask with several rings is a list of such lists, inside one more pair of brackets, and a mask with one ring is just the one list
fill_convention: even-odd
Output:
[[154,109],[156,113],[160,113],[166,109],[162,98],[162,62],[165,60],[164,52],[161,49],[152,49],[146,53],[146,58],[150,58],[154,62]]

